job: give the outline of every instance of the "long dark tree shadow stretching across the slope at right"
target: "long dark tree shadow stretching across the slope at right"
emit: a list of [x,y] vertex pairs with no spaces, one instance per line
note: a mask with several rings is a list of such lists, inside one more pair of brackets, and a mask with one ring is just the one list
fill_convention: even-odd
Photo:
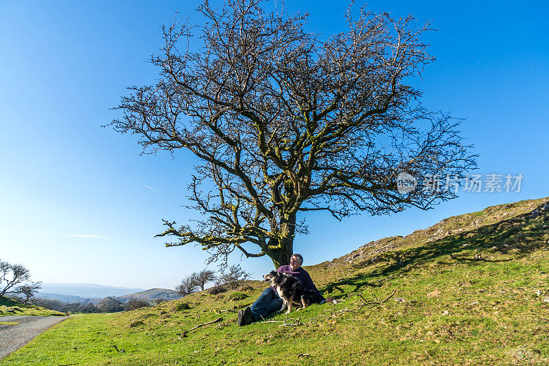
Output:
[[[375,262],[366,260],[361,264],[354,264],[354,268],[376,265],[372,271],[344,278],[324,286],[322,293],[332,294],[334,290],[342,293],[355,292],[364,287],[378,287],[380,279],[394,274],[406,273],[415,266],[432,262],[445,256],[450,256],[458,262],[509,262],[523,258],[537,249],[547,247],[544,236],[548,230],[545,226],[549,221],[549,204],[542,203],[536,209],[501,220],[491,225],[484,225],[470,231],[463,231],[445,238],[425,243],[420,247],[390,251],[379,255]],[[511,255],[512,258],[489,260],[482,258],[483,250],[490,249],[491,253]],[[465,252],[465,253],[462,253]],[[345,289],[343,287],[346,287]],[[349,287],[351,289],[349,289]],[[331,296],[334,296],[332,294]]]

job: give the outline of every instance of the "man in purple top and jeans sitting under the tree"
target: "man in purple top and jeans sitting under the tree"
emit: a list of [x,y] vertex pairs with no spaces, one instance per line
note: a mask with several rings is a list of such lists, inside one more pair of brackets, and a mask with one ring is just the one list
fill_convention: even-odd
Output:
[[[292,275],[295,279],[299,279],[305,287],[318,293],[318,289],[314,286],[311,276],[301,267],[301,264],[303,264],[303,257],[301,254],[296,253],[290,258],[290,264],[281,266],[277,269],[277,272]],[[325,301],[323,298],[320,304],[323,304]],[[254,321],[264,319],[269,314],[281,310],[282,304],[283,301],[277,294],[277,290],[274,287],[268,287],[259,295],[255,303],[238,312],[238,325],[248,325]]]

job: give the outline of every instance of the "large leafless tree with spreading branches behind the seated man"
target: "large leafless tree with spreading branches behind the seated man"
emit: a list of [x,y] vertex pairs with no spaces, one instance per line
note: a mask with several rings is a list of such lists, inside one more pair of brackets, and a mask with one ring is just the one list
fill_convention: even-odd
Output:
[[266,11],[271,4],[205,1],[202,25],[164,27],[150,60],[159,82],[130,87],[117,106],[124,115],[111,125],[137,134],[144,152],[183,148],[203,162],[189,186],[202,220],[164,220],[159,236],[177,239],[166,246],[195,242],[225,264],[238,249],[277,268],[307,232],[307,211],[341,220],[454,198],[397,187],[400,172],[459,181],[475,166],[460,120],[428,111],[412,84],[434,60],[420,39],[428,25],[349,8],[347,32],[322,38],[305,32],[307,14]]

